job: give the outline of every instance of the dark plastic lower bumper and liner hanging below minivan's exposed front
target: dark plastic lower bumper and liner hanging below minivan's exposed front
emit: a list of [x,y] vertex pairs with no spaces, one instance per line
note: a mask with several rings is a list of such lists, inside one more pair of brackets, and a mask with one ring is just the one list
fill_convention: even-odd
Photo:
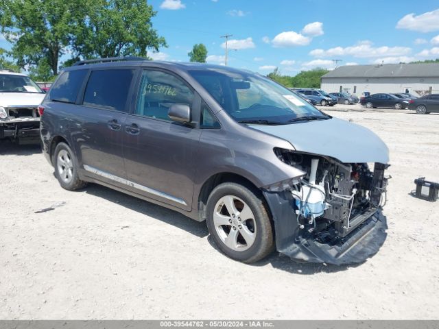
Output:
[[300,234],[287,191],[263,191],[263,194],[272,210],[276,249],[294,260],[332,265],[362,263],[378,252],[387,237],[387,220],[381,209],[377,209],[335,244],[305,239]]

